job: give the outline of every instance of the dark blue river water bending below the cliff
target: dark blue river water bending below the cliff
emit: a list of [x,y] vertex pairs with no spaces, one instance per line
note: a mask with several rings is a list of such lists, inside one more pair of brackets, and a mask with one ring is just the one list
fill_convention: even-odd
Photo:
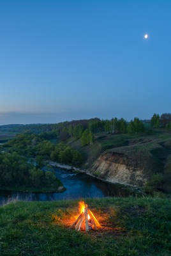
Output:
[[126,189],[119,188],[117,185],[98,180],[86,173],[73,173],[70,170],[54,168],[56,177],[63,182],[66,191],[63,193],[28,193],[0,191],[0,204],[18,198],[27,201],[52,201],[66,200],[74,198],[94,198],[105,196],[130,196]]

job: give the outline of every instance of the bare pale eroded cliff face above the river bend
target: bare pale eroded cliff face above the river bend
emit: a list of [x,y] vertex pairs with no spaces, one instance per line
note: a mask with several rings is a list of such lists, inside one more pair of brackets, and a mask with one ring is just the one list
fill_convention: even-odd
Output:
[[117,152],[104,152],[94,162],[89,173],[110,182],[143,186],[147,173],[136,157]]

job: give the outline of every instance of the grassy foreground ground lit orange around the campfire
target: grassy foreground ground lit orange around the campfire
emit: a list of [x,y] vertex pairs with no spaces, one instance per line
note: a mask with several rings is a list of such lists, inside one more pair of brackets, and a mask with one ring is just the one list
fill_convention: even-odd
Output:
[[69,229],[77,200],[0,207],[0,255],[171,255],[171,204],[161,198],[87,199],[101,228]]

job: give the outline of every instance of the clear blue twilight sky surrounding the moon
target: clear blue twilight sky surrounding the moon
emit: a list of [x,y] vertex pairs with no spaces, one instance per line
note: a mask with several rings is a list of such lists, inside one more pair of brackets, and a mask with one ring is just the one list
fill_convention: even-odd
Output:
[[170,13],[168,0],[0,0],[0,125],[170,113]]

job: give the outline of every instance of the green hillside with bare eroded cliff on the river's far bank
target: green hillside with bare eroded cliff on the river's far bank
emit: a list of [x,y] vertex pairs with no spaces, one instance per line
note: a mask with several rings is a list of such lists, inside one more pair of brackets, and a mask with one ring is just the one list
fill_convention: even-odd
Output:
[[96,134],[92,146],[69,141],[86,157],[82,168],[98,178],[171,191],[171,134]]

